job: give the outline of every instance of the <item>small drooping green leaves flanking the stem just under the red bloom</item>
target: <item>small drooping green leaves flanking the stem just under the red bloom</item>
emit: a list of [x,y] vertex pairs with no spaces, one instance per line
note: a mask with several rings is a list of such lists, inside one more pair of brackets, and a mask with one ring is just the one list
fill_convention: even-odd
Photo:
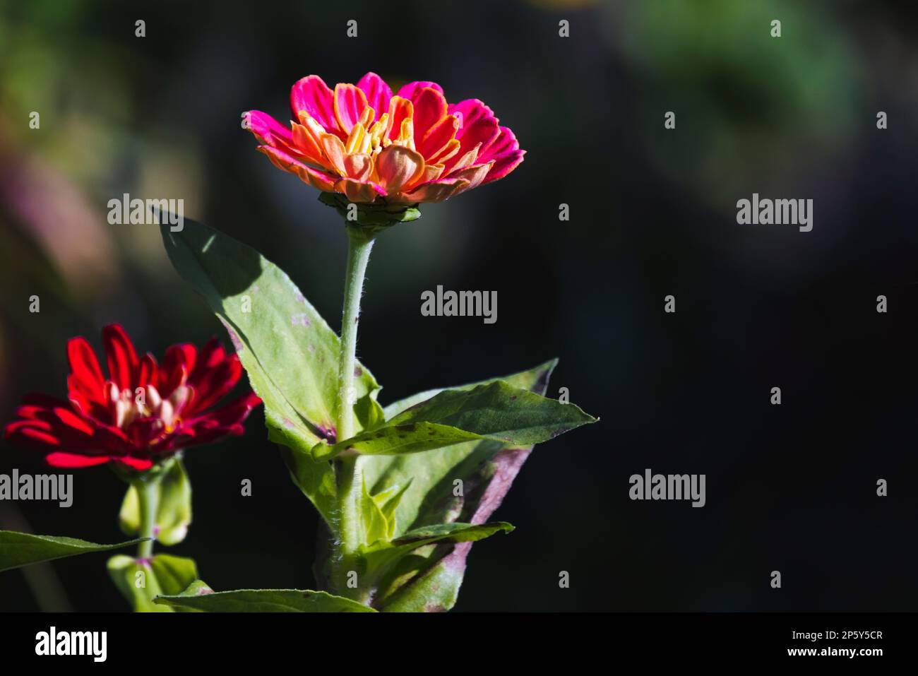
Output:
[[[185,539],[191,524],[191,481],[180,459],[175,458],[156,487],[158,507],[153,532],[163,545],[175,545]],[[129,486],[124,496],[118,521],[125,535],[140,532],[140,503],[134,486]]]

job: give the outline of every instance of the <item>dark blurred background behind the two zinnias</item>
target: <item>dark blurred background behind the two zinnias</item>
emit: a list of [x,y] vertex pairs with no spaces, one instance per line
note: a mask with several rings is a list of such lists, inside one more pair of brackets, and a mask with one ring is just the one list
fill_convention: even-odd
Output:
[[[483,99],[528,154],[377,242],[358,349],[380,399],[558,356],[550,396],[568,388],[602,419],[536,448],[496,514],[518,528],[474,547],[456,609],[918,606],[914,3],[0,6],[3,422],[28,391],[63,396],[66,340],[100,348],[106,323],[155,355],[229,343],[157,228],[106,222],[122,193],[184,198],[185,216],[263,252],[337,329],[341,220],[254,151],[241,112],[285,119],[309,73],[431,79],[450,101]],[[812,198],[812,232],[737,225],[753,192]],[[438,284],[497,289],[497,323],[422,317]],[[316,513],[260,415],[248,429],[186,454],[195,519],[173,551],[218,590],[311,587]],[[12,468],[45,470],[4,442]],[[630,501],[644,468],[706,474],[707,506]],[[115,542],[123,490],[106,468],[76,471],[70,509],[3,502],[0,527]],[[6,572],[0,609],[126,610],[105,561]]]

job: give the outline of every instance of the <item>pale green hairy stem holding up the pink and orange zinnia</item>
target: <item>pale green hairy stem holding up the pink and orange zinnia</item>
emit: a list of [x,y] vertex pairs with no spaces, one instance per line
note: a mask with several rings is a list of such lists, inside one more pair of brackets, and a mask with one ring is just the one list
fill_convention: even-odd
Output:
[[[347,272],[344,277],[344,311],[341,314],[341,356],[338,362],[338,421],[336,440],[353,436],[353,403],[355,388],[353,371],[356,366],[357,323],[360,317],[360,296],[364,289],[366,264],[370,260],[373,237],[357,228],[348,228]],[[361,472],[357,457],[342,457],[338,461],[338,496],[341,510],[342,563],[360,546],[358,503]]]

